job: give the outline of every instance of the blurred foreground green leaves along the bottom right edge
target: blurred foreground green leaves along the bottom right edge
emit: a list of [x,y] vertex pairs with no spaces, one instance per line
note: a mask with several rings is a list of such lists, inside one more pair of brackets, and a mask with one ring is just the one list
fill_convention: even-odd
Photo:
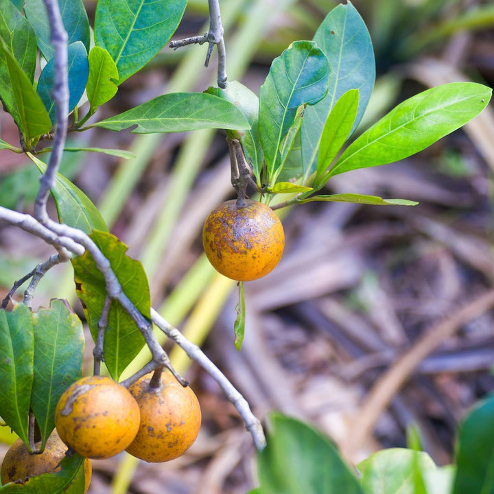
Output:
[[460,424],[454,463],[437,467],[419,445],[377,451],[349,467],[310,425],[270,416],[268,446],[257,456],[260,486],[249,494],[493,494],[494,397]]

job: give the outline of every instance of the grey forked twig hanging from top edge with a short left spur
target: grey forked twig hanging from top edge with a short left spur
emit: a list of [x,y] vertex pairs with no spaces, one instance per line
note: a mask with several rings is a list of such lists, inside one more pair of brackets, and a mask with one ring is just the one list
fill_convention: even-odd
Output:
[[206,61],[204,65],[209,65],[209,58],[213,51],[214,45],[217,47],[218,64],[217,64],[217,85],[220,88],[226,88],[226,49],[224,45],[224,30],[221,21],[220,0],[208,0],[209,3],[209,31],[202,36],[191,36],[183,40],[170,41],[169,47],[177,49],[187,45],[202,45],[209,43]]

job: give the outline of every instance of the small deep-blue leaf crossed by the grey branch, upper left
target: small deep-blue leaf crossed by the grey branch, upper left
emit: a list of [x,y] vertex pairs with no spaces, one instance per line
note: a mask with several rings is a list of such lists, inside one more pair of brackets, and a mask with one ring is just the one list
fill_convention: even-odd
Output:
[[[86,48],[80,41],[72,43],[67,48],[69,57],[69,111],[78,104],[86,89],[89,74],[89,64]],[[56,105],[53,98],[55,82],[55,60],[52,58],[41,72],[38,80],[38,95],[47,109],[51,123],[56,122]]]

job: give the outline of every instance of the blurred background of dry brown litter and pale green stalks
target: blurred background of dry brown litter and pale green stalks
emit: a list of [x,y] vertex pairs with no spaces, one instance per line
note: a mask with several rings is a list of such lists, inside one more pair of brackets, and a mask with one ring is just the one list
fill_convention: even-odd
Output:
[[[86,1],[90,19],[95,1]],[[329,0],[220,2],[227,73],[258,93],[273,58],[311,39]],[[377,80],[361,132],[403,99],[458,80],[494,85],[494,5],[478,0],[355,0],[375,48]],[[174,39],[207,31],[207,0],[189,0]],[[99,110],[103,119],[162,93],[215,84],[207,47],[165,47]],[[0,112],[0,137],[18,142]],[[416,207],[309,203],[283,210],[286,247],[274,272],[246,283],[242,351],[233,345],[235,282],[202,254],[202,223],[233,198],[222,131],[131,134],[91,130],[69,140],[134,152],[64,156],[62,173],[97,204],[142,261],[153,306],[205,353],[264,421],[276,409],[331,436],[349,462],[406,446],[418,428],[438,464],[451,462],[464,412],[494,389],[492,105],[468,126],[405,161],[336,176],[333,192],[406,198]],[[38,171],[0,151],[0,204],[32,211]],[[51,249],[0,223],[0,296]],[[68,298],[70,266],[51,270],[34,306]],[[22,290],[17,294],[22,298]],[[255,451],[215,381],[163,342],[200,399],[203,425],[187,454],[165,464],[120,455],[93,461],[90,493],[244,494]],[[86,345],[91,372],[93,345]],[[138,357],[132,368],[146,362]],[[129,369],[127,374],[130,374]],[[125,377],[125,376],[124,376]],[[3,434],[9,442],[11,436]],[[6,451],[3,446],[0,455]]]

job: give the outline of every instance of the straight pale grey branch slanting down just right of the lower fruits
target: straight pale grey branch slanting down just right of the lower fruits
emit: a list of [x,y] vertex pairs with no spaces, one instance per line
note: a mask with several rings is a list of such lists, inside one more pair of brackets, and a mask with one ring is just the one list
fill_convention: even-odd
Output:
[[230,381],[225,377],[225,375],[220,371],[211,360],[202,352],[199,346],[189,342],[185,336],[183,336],[178,329],[174,328],[167,322],[163,317],[161,317],[158,312],[151,309],[151,319],[154,324],[165,333],[168,338],[174,340],[178,346],[180,346],[187,356],[191,360],[195,360],[198,364],[204,368],[213,379],[220,385],[228,400],[235,405],[237,412],[242,417],[247,430],[252,435],[255,447],[260,451],[266,447],[266,437],[264,436],[263,428],[257,417],[252,414],[250,407],[246,399],[237,391],[237,389],[231,384]]

